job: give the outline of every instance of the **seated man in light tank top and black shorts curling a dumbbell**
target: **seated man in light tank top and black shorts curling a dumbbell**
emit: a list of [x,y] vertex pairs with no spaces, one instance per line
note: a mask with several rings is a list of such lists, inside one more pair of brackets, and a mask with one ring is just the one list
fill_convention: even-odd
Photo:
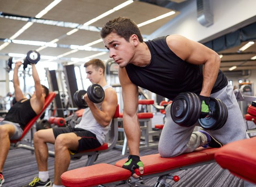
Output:
[[83,97],[88,107],[84,109],[82,120],[75,127],[58,127],[43,129],[34,133],[34,148],[38,163],[38,177],[24,186],[50,187],[52,183],[48,174],[48,147],[46,143],[54,144],[55,167],[54,185],[62,185],[60,175],[67,171],[70,164],[70,153],[74,154],[87,149],[100,147],[110,129],[111,120],[117,106],[117,95],[114,89],[107,85],[104,76],[105,65],[99,59],[92,59],[84,64],[87,77],[92,83],[102,86],[105,98],[100,103],[93,103],[86,93]]

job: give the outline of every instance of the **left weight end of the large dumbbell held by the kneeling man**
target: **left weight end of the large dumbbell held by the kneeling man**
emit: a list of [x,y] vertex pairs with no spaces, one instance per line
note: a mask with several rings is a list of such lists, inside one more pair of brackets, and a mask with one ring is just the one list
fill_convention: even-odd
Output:
[[171,104],[172,120],[182,127],[190,127],[200,116],[201,101],[198,95],[184,92],[174,98]]

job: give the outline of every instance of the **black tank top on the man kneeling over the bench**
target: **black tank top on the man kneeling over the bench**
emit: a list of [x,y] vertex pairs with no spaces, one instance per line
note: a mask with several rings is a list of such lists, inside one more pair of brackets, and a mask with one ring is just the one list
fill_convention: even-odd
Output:
[[[202,90],[202,65],[190,64],[179,58],[166,43],[166,37],[145,42],[151,53],[150,64],[146,67],[128,64],[126,72],[131,82],[150,92],[173,100],[181,92]],[[219,70],[211,93],[218,92],[228,84],[226,76]]]

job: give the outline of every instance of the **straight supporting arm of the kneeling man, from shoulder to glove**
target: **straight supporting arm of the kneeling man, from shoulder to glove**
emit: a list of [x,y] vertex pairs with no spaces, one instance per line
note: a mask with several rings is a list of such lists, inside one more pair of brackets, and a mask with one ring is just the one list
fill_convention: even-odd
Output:
[[138,86],[130,81],[125,68],[119,68],[118,76],[122,86],[124,102],[123,125],[130,155],[139,156],[140,125],[137,117]]

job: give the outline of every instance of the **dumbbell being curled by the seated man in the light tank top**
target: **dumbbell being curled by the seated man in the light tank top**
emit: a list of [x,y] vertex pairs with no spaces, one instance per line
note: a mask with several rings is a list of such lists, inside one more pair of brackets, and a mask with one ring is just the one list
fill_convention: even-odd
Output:
[[84,95],[87,93],[90,101],[93,103],[100,103],[105,98],[105,93],[103,88],[99,84],[92,84],[86,90],[78,90],[74,94],[74,102],[79,108],[87,108],[88,105],[84,101]]

